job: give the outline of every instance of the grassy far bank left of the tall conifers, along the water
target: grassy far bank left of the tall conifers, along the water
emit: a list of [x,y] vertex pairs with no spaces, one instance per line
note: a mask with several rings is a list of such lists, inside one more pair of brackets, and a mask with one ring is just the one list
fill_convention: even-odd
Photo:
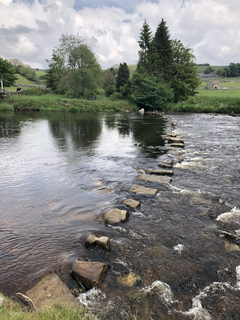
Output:
[[[7,102],[6,102],[7,101]],[[9,108],[9,110],[7,110]],[[97,100],[72,99],[53,93],[40,96],[15,95],[0,103],[0,111],[125,111],[136,110],[135,103],[128,99],[113,101],[104,96],[97,96]]]

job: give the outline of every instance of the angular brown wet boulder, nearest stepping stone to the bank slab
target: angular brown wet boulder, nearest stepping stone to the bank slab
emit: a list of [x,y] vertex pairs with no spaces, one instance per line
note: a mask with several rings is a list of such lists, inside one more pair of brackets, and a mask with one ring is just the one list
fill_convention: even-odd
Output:
[[108,265],[102,262],[74,261],[71,266],[72,275],[86,288],[97,287],[105,276]]

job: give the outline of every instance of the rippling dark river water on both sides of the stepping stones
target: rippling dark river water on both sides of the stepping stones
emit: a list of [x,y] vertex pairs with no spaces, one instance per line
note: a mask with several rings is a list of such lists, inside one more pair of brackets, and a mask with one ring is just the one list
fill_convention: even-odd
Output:
[[[78,299],[107,319],[239,319],[240,120],[173,114],[185,141],[170,185],[138,179],[169,159],[158,114],[0,114],[0,291],[26,292],[76,258],[108,263],[99,289]],[[132,184],[159,191],[134,195]],[[115,227],[109,208],[141,202]],[[129,208],[128,208],[129,210]],[[84,246],[109,236],[108,253]],[[121,279],[134,273],[133,286]],[[68,284],[70,285],[70,284]],[[101,312],[100,312],[101,310]]]

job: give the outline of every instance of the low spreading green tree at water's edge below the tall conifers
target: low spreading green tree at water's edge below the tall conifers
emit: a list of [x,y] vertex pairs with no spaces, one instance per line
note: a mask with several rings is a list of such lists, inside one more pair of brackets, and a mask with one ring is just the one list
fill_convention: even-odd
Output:
[[131,98],[140,108],[161,110],[173,99],[173,91],[168,84],[157,82],[154,76],[134,72],[131,78]]

